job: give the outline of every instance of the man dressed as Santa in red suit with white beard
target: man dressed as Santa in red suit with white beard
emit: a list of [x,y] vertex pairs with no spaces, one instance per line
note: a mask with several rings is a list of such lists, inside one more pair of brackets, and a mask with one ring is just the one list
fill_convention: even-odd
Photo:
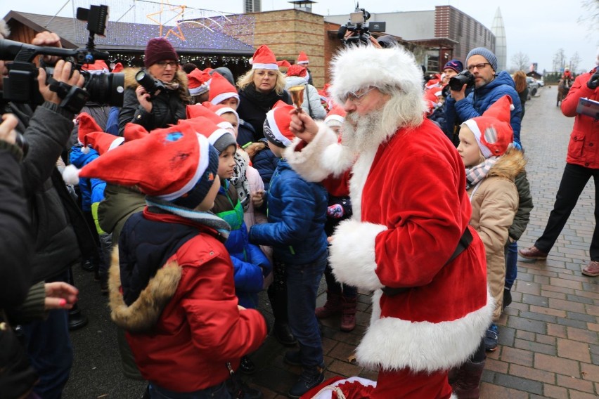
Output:
[[352,198],[329,262],[342,284],[374,292],[356,351],[379,371],[369,398],[450,398],[447,370],[477,349],[494,308],[484,245],[468,226],[463,163],[424,117],[423,74],[411,53],[344,48],[332,72],[329,91],[347,112],[341,142],[294,113],[290,129],[301,140],[285,158],[307,181]]

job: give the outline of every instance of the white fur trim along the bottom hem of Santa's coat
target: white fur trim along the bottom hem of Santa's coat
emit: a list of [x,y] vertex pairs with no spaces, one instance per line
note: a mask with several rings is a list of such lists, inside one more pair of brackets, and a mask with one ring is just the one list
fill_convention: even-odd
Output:
[[356,350],[360,365],[371,369],[435,372],[458,366],[480,345],[495,308],[487,292],[487,304],[463,318],[413,322],[384,315],[381,318],[380,297],[380,291],[373,295],[371,325]]

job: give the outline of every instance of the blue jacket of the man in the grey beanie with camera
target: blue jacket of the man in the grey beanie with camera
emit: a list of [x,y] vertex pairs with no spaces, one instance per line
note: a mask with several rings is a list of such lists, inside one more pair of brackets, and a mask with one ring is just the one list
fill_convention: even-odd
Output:
[[447,98],[446,114],[456,112],[458,123],[479,117],[484,111],[506,94],[512,98],[514,109],[510,112],[510,125],[514,131],[514,142],[520,148],[520,123],[522,122],[522,104],[520,96],[515,89],[514,79],[505,71],[499,72],[495,79],[482,87],[472,90],[468,97],[456,102],[451,97]]

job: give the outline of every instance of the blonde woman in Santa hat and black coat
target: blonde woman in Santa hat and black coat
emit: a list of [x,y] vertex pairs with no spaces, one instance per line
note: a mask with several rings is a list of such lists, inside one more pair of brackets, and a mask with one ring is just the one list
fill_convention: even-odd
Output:
[[264,138],[264,119],[278,100],[291,104],[285,91],[285,75],[278,70],[276,57],[271,49],[262,45],[254,53],[252,69],[237,81],[239,107],[237,113],[254,128],[254,142]]

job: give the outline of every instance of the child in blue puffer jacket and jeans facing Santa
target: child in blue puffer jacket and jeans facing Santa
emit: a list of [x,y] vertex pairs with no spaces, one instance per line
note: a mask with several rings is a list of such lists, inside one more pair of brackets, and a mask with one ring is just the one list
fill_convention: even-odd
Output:
[[[318,183],[305,181],[283,156],[295,136],[289,130],[290,112],[283,101],[266,114],[264,135],[273,154],[281,158],[271,180],[268,197],[269,223],[250,228],[250,242],[273,247],[274,282],[269,289],[275,323],[288,317],[299,351],[285,353],[285,362],[302,367],[290,388],[290,398],[299,398],[324,379],[320,329],[314,311],[316,294],[326,267],[327,241],[324,230],[327,195]],[[285,292],[286,291],[286,292]]]

